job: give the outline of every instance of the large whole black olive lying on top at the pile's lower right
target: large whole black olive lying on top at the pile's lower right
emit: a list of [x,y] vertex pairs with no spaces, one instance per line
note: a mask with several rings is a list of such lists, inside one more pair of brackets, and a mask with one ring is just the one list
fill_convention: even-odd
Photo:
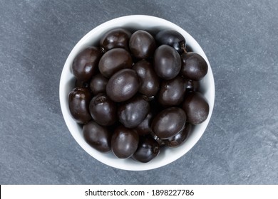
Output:
[[168,139],[181,131],[185,127],[185,122],[185,112],[179,107],[170,107],[155,116],[152,129],[160,139]]

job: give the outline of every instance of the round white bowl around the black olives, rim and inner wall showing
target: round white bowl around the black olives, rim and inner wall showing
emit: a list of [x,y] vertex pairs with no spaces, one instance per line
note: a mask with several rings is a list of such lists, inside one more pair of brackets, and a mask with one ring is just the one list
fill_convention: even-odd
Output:
[[[128,28],[131,31],[135,30],[145,30],[150,31],[152,33],[156,33],[159,30],[163,30],[166,28],[173,29],[178,31],[185,37],[187,45],[189,45],[192,50],[196,53],[202,55],[203,58],[207,61],[208,72],[207,75],[200,82],[200,92],[207,98],[207,102],[210,105],[210,113],[202,124],[198,124],[193,128],[192,133],[187,137],[187,140],[184,144],[177,148],[167,148],[160,150],[160,154],[154,158],[152,161],[148,163],[140,163],[138,161],[134,161],[132,158],[128,159],[120,159],[117,158],[112,152],[108,154],[103,154],[99,151],[93,149],[90,145],[88,145],[83,138],[81,125],[77,124],[68,109],[68,93],[71,92],[74,85],[74,77],[71,72],[71,63],[73,62],[73,58],[76,57],[78,52],[83,50],[84,48],[90,45],[98,45],[98,41],[100,40],[103,33],[106,33],[110,29],[123,27]],[[207,56],[204,51],[200,47],[200,45],[195,41],[189,33],[180,28],[179,26],[171,23],[170,21],[166,21],[163,18],[158,18],[154,16],[144,16],[144,15],[132,15],[132,16],[123,16],[119,18],[114,18],[113,20],[102,23],[100,26],[93,28],[92,31],[86,34],[80,41],[74,46],[71,53],[68,55],[65,65],[63,66],[63,71],[61,74],[60,80],[60,103],[61,110],[63,113],[63,118],[65,119],[66,125],[71,131],[71,134],[74,139],[78,142],[78,144],[93,158],[96,158],[98,161],[105,163],[108,166],[112,166],[114,168],[120,168],[123,170],[129,171],[144,171],[150,170],[153,168],[159,168],[161,166],[165,166],[168,163],[172,163],[177,160],[181,156],[185,155],[192,147],[197,143],[202,134],[205,132],[207,128],[207,124],[210,121],[210,117],[212,115],[212,109],[215,102],[215,82],[212,75],[212,69],[210,68],[210,63],[207,60]]]

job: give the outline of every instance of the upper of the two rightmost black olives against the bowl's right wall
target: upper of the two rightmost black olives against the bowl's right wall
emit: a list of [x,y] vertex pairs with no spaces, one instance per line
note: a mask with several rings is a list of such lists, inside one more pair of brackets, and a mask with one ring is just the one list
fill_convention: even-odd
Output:
[[188,80],[199,81],[207,74],[207,62],[197,53],[183,53],[180,55],[182,68],[180,73]]

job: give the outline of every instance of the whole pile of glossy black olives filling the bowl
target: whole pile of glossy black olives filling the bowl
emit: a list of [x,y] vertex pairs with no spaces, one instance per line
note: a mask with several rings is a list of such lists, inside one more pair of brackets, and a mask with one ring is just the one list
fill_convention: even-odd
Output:
[[209,114],[198,92],[207,63],[177,31],[114,28],[71,67],[69,110],[87,143],[103,153],[147,163],[163,147],[184,143]]

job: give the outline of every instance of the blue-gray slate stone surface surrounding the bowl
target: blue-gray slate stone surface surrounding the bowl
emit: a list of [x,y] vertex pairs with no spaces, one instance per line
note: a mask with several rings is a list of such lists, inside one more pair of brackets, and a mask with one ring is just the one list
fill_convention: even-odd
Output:
[[[190,33],[210,60],[215,109],[188,154],[122,171],[86,154],[61,114],[73,46],[146,14]],[[0,184],[278,184],[278,1],[0,1]]]

